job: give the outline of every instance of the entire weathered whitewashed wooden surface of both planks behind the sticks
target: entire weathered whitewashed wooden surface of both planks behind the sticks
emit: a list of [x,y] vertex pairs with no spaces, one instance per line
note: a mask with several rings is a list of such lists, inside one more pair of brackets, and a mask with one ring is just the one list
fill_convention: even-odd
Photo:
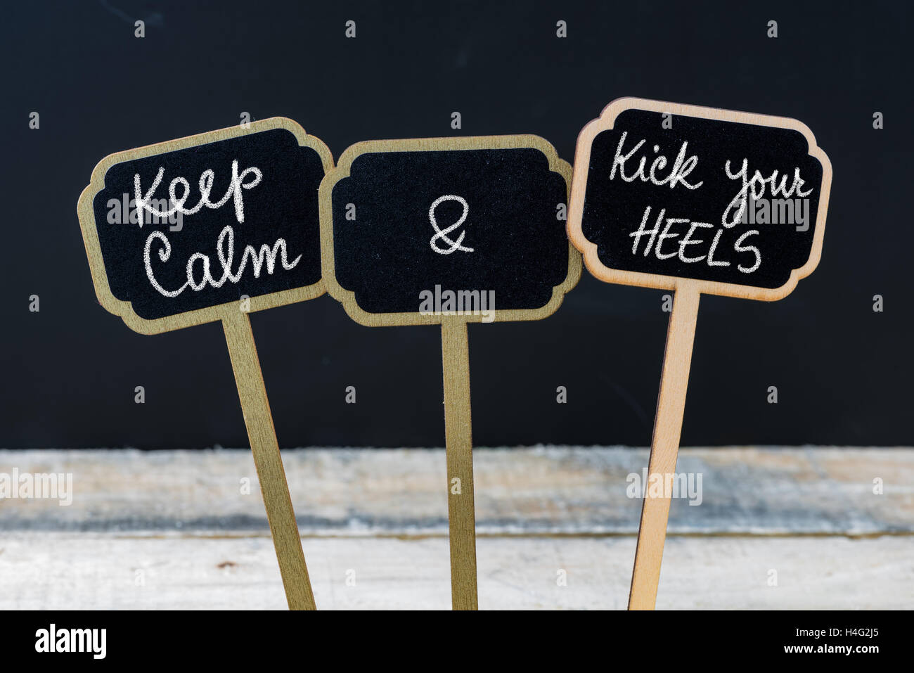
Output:
[[[283,451],[320,609],[450,607],[442,450]],[[623,609],[643,449],[474,451],[481,609]],[[285,607],[250,451],[0,451],[0,609]],[[684,449],[657,607],[914,607],[914,449]],[[874,480],[882,493],[874,493]],[[566,582],[558,582],[565,577]]]

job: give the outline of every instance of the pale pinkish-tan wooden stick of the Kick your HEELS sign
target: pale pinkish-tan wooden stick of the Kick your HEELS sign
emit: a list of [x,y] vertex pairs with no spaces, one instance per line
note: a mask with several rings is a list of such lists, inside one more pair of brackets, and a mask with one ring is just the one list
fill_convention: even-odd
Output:
[[[634,554],[629,610],[653,610],[657,600],[660,564],[664,558],[666,521],[670,516],[670,492],[665,485],[670,483],[668,479],[675,478],[668,475],[675,475],[700,296],[695,286],[680,285],[675,293],[673,315],[670,315],[667,327],[664,370],[660,379],[660,395],[657,398],[657,413],[654,418],[654,438],[651,442],[651,458],[647,470],[648,483],[643,485],[644,503],[641,510],[641,527],[638,529],[638,547]],[[661,497],[649,497],[648,485],[652,479],[663,479],[664,489]]]

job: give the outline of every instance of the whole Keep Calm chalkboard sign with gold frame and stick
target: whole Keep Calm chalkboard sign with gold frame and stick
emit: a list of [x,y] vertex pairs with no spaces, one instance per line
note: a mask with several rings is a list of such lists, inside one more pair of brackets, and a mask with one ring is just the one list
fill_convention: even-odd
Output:
[[273,117],[106,156],[78,212],[95,293],[133,330],[221,321],[292,608],[314,595],[248,313],[324,294],[318,187],[330,151]]

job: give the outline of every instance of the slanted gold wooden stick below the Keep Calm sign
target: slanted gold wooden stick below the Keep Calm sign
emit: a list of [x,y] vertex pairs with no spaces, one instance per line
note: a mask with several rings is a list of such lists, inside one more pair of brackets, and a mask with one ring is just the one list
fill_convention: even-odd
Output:
[[254,335],[250,331],[250,319],[248,314],[238,311],[223,317],[222,326],[231,368],[235,372],[244,424],[248,428],[250,451],[257,466],[260,493],[267,509],[267,520],[270,521],[276,558],[280,563],[286,600],[290,610],[314,610],[314,593],[304,564],[302,539],[295,522],[292,498],[289,497],[270,401],[263,385]]

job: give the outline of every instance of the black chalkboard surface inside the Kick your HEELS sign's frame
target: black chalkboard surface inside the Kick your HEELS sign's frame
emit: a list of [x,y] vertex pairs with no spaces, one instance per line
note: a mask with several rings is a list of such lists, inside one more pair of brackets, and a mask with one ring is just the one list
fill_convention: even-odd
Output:
[[[587,183],[581,230],[588,240],[598,244],[600,262],[611,269],[643,273],[657,273],[681,278],[698,278],[721,283],[753,285],[755,287],[777,288],[790,280],[793,269],[799,269],[809,260],[813,247],[813,235],[818,223],[816,213],[822,187],[823,166],[819,160],[807,154],[809,144],[799,131],[758,126],[748,123],[721,122],[699,117],[677,116],[672,129],[662,127],[663,113],[643,110],[626,110],[613,123],[612,129],[601,131],[593,139],[590,148],[590,170]],[[617,172],[610,180],[612,166],[622,134],[626,134],[622,155],[629,155],[642,140],[641,149],[625,162],[625,175],[634,176],[641,157],[646,156],[645,165],[652,166],[655,156],[664,155],[667,160],[664,170],[657,175],[672,175],[675,157],[684,143],[686,161],[696,156],[697,162],[686,180],[689,189],[680,184],[670,188],[669,184],[657,187],[650,182],[635,178],[632,182],[622,179]],[[727,142],[721,143],[720,138]],[[652,146],[660,147],[660,154],[654,154]],[[800,187],[809,192],[809,220],[806,231],[797,231],[792,224],[738,223],[731,228],[721,224],[721,217],[727,212],[731,200],[742,187],[741,179],[729,178],[725,172],[730,162],[730,175],[739,172],[742,160],[748,159],[748,178],[756,171],[769,177],[774,171],[783,179],[787,176],[786,188],[792,190],[793,170],[798,168],[805,180]],[[649,174],[648,174],[649,175]],[[780,184],[780,183],[779,183]],[[765,185],[764,196],[771,198],[771,186]],[[759,187],[755,187],[758,189]],[[798,190],[799,191],[799,190]],[[749,199],[751,194],[749,194]],[[800,197],[794,194],[793,199]],[[638,239],[637,251],[632,253],[632,232],[638,231],[644,218],[645,208],[651,211],[644,224],[645,230],[657,226],[657,218],[665,208],[667,218],[689,219],[710,224],[710,228],[697,229],[691,240],[701,241],[685,246],[686,257],[702,257],[709,254],[712,241],[722,230],[717,240],[714,259],[729,262],[729,266],[710,266],[706,262],[681,262],[677,257],[660,260],[654,251],[664,254],[676,251],[679,241],[685,240],[689,222],[676,223],[669,233],[675,238],[665,242],[660,239],[661,229],[648,249],[650,234]],[[747,201],[748,211],[751,208]],[[739,208],[736,208],[739,210]],[[728,215],[732,218],[732,215]],[[756,263],[751,251],[736,251],[736,243],[745,232],[758,233],[749,236],[743,246],[757,247],[760,254],[759,268],[751,273],[739,271],[739,266],[750,268]],[[645,255],[644,252],[650,250]]]

